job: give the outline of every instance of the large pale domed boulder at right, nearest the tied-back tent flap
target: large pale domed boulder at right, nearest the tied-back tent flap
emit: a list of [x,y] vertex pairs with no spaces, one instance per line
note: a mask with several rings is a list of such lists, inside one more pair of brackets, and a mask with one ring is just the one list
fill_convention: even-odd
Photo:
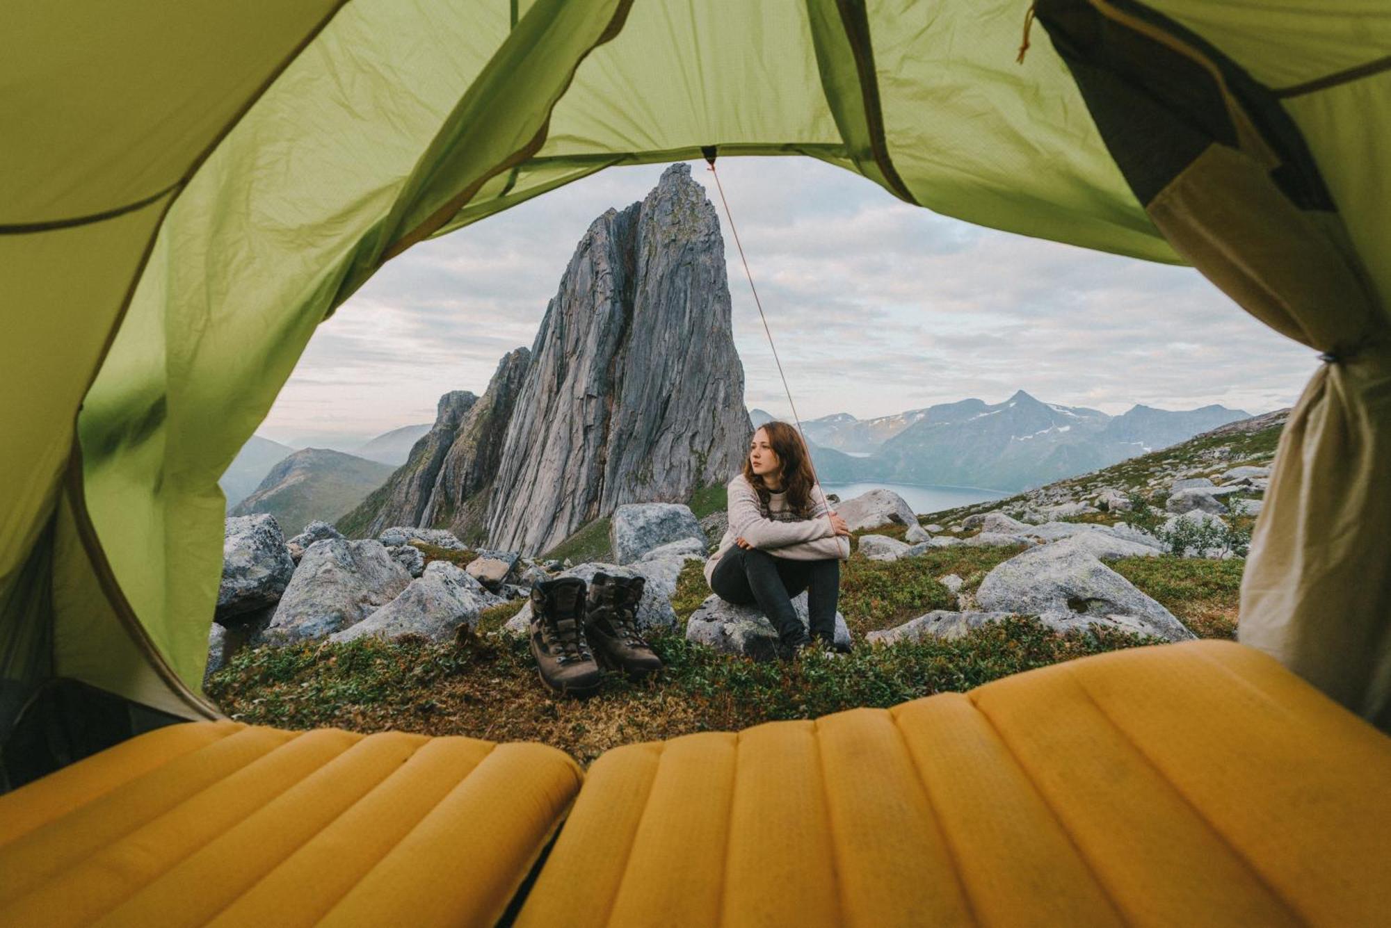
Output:
[[1043,615],[1075,613],[1091,618],[1134,617],[1145,635],[1167,640],[1193,638],[1182,622],[1124,577],[1085,550],[1045,545],[999,564],[975,593],[983,610]]

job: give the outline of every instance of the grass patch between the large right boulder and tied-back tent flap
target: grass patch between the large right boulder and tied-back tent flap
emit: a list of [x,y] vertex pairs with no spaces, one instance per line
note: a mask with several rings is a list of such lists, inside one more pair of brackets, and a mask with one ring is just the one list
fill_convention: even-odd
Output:
[[1159,600],[1199,638],[1237,638],[1244,558],[1210,561],[1164,554],[1124,557],[1109,565]]

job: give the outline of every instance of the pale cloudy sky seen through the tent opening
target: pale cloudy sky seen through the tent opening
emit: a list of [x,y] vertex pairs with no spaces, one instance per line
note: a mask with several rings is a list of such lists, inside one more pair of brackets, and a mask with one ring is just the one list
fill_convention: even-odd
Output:
[[[498,358],[531,345],[588,224],[643,199],[664,167],[605,171],[391,261],[320,326],[259,433],[352,446],[433,421],[447,390],[481,395]],[[1113,414],[1264,413],[1317,365],[1188,268],[967,225],[810,158],[719,167],[804,418],[1017,389]],[[718,203],[704,163],[691,174]],[[725,242],[746,400],[783,414],[727,226]]]

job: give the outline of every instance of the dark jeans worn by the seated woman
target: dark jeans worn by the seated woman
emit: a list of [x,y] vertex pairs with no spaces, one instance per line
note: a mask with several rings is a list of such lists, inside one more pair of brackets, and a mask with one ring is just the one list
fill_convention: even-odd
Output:
[[807,590],[811,633],[830,640],[836,635],[836,599],[840,596],[840,561],[794,561],[773,557],[757,547],[737,545],[719,558],[709,586],[727,603],[758,604],[787,645],[805,640],[807,631],[791,607],[791,597]]

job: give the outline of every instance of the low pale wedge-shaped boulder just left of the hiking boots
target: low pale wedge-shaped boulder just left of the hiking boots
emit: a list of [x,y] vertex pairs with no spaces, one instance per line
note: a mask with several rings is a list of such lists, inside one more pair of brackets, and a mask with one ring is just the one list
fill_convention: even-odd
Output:
[[424,635],[448,640],[460,625],[473,628],[479,613],[502,603],[474,578],[448,561],[431,561],[419,579],[410,581],[399,596],[356,625],[328,636],[331,642],[351,642],[366,635],[396,638]]

